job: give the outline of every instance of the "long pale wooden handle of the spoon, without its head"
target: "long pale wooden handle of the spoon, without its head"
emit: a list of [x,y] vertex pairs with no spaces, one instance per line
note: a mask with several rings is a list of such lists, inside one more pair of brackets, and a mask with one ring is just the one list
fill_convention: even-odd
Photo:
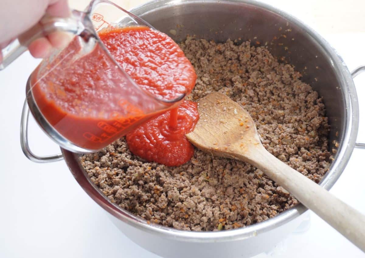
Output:
[[[271,155],[262,145],[254,148],[250,163],[289,191],[354,245],[365,252],[365,216],[324,188]],[[251,156],[251,155],[250,155]],[[247,156],[246,156],[247,160]]]

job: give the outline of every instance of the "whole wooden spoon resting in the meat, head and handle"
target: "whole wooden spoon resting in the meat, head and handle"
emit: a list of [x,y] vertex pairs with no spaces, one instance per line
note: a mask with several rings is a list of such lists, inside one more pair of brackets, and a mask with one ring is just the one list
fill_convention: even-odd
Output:
[[187,134],[192,144],[254,165],[365,251],[365,216],[271,155],[262,146],[250,114],[238,103],[215,92],[200,99],[198,109],[200,119]]

